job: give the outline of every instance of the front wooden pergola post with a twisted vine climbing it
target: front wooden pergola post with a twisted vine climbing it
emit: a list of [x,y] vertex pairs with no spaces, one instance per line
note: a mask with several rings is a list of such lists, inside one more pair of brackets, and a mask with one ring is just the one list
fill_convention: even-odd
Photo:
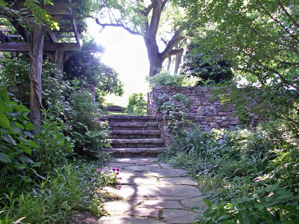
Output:
[[41,72],[43,64],[43,36],[44,27],[41,24],[34,24],[31,31],[31,41],[29,43],[30,56],[30,122],[34,125],[33,134],[38,134],[41,120]]

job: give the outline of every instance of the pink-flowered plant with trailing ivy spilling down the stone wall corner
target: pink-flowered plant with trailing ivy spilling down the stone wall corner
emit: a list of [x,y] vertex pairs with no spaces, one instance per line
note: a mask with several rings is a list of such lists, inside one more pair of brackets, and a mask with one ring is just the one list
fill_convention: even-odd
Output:
[[[175,138],[179,134],[178,119],[175,118],[175,115],[181,117],[183,126],[187,122],[184,110],[190,108],[190,106],[191,100],[188,96],[181,93],[176,93],[173,96],[161,94],[156,98],[156,102],[153,105],[154,108],[157,108],[157,112],[163,113],[163,119],[167,122],[166,129]],[[183,127],[182,131],[185,131]]]

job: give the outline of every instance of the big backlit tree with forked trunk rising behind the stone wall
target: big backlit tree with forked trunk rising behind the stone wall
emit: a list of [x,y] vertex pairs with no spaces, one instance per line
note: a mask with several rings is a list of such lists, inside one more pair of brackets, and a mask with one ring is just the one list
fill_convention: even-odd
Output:
[[[105,1],[100,5],[96,22],[103,28],[106,26],[123,27],[131,34],[141,35],[147,48],[150,62],[150,76],[154,76],[166,58],[183,53],[177,48],[184,39],[182,8],[175,1],[168,0],[126,0]],[[168,30],[163,30],[167,27]],[[163,35],[159,35],[159,30]],[[165,35],[167,34],[167,35]],[[159,50],[158,38],[166,44]]]

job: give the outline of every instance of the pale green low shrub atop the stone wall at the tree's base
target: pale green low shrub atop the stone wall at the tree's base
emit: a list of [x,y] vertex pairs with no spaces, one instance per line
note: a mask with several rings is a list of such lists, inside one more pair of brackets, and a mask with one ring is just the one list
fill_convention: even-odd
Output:
[[171,75],[168,71],[160,72],[154,77],[148,77],[150,85],[155,86],[196,86],[199,82],[199,78],[190,75],[186,77],[184,75],[174,74]]

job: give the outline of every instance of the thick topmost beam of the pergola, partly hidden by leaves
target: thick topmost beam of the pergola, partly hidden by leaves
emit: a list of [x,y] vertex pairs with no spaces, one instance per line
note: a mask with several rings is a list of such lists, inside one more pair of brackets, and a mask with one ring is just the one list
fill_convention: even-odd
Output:
[[[8,5],[14,9],[14,10],[22,10],[22,12],[30,12],[30,10],[27,8],[27,6],[24,6],[24,2],[7,2]],[[14,4],[13,4],[14,3]],[[47,14],[55,16],[55,15],[62,15],[62,16],[70,16],[71,11],[68,8],[66,3],[63,2],[53,2],[53,5],[43,5],[40,4],[40,8],[47,11]]]

